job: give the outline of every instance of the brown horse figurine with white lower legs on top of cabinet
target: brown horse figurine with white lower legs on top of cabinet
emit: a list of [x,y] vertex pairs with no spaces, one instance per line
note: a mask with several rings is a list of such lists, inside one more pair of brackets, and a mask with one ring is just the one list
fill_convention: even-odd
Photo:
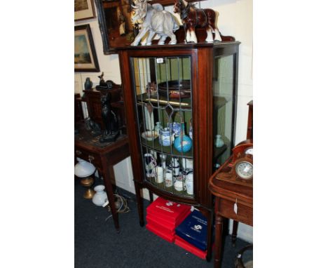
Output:
[[[179,13],[184,24],[187,43],[197,43],[195,27],[206,27],[207,38],[205,41],[222,41],[219,29],[215,25],[215,11],[210,8],[196,8],[194,4],[189,4],[183,0],[175,0],[174,13]],[[215,34],[213,39],[213,33]]]

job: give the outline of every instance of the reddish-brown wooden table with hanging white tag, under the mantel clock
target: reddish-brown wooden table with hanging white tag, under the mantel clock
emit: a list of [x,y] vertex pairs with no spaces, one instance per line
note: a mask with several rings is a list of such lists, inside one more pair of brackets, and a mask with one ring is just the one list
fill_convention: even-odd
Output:
[[[253,186],[245,186],[236,181],[221,180],[217,177],[220,172],[228,172],[231,167],[229,163],[231,156],[213,175],[210,177],[209,189],[215,196],[215,248],[214,267],[221,265],[221,245],[224,217],[253,226]],[[235,203],[237,213],[235,213]]]

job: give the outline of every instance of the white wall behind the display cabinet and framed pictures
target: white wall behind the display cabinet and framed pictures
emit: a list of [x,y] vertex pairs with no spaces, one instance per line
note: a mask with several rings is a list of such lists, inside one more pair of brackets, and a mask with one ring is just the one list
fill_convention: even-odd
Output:
[[[252,48],[253,48],[253,3],[252,0],[207,0],[201,1],[200,8],[212,8],[219,12],[218,27],[223,35],[234,36],[240,41],[239,54],[239,75],[238,75],[238,107],[237,107],[237,126],[235,142],[241,142],[246,138],[247,130],[247,102],[253,98],[253,79],[252,79]],[[198,5],[198,4],[197,4]],[[165,8],[172,12],[172,7]],[[102,50],[102,37],[97,18],[76,22],[75,25],[89,24],[95,50],[100,65],[100,71],[104,72],[104,79],[111,79],[115,83],[121,83],[118,55],[104,55]],[[83,83],[86,77],[90,77],[94,85],[98,83],[97,76],[100,73],[81,72],[75,73],[76,93],[82,93]],[[132,182],[132,168],[130,157],[114,166],[116,183],[119,187],[135,193]],[[149,199],[148,191],[144,190],[144,197]],[[247,241],[252,241],[252,227],[239,225],[238,237]]]

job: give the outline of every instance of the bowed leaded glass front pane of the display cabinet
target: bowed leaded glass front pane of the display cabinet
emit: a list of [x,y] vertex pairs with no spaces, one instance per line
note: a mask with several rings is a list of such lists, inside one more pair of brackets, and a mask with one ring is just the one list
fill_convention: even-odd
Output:
[[191,57],[131,58],[144,180],[193,198]]

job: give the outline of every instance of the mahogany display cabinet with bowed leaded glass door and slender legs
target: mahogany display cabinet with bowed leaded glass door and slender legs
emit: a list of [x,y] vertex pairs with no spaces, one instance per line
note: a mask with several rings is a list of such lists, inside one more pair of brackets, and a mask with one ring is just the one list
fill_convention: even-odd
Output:
[[142,188],[195,206],[207,217],[207,260],[213,218],[207,185],[234,145],[239,44],[117,48],[140,225]]

